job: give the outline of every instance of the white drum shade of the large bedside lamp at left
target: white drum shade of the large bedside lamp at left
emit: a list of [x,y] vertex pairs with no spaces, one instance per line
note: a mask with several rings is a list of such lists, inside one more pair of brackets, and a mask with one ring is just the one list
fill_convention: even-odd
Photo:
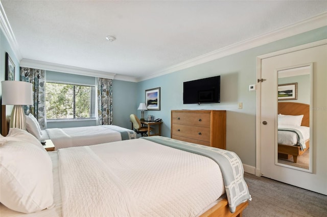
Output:
[[4,80],[1,82],[1,86],[3,105],[33,104],[32,83]]

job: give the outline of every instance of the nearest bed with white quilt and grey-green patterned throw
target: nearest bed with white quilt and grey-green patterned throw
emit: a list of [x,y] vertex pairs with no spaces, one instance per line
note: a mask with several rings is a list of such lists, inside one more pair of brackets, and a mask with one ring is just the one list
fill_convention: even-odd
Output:
[[[10,146],[6,144],[6,139],[3,141],[0,148],[14,148],[13,142],[9,142]],[[43,205],[45,207],[29,209],[34,213],[25,214],[5,206],[10,204],[6,201],[8,198],[4,198],[5,192],[0,197],[3,203],[0,206],[1,216],[197,216],[222,196],[227,196],[231,211],[250,200],[239,157],[222,149],[165,137],[72,147],[54,152],[40,151],[39,147],[32,147],[35,145],[26,142],[19,144],[15,152],[21,150],[19,146],[31,146],[33,155],[38,152],[52,159],[53,177],[46,183],[51,183],[53,195],[33,196],[41,197],[43,201],[48,196],[54,200]],[[6,165],[6,162],[2,163]],[[24,164],[22,166],[25,167]],[[15,167],[19,167],[19,162]],[[41,166],[35,167],[37,170]],[[1,173],[3,179],[3,169]],[[33,174],[25,175],[34,178]],[[36,177],[35,180],[39,179]],[[45,181],[42,180],[42,183]],[[8,184],[10,186],[1,186],[2,191],[5,187],[6,191],[14,188],[12,183]],[[33,189],[33,194],[37,187]],[[15,206],[30,205],[28,200],[25,203]],[[17,209],[15,206],[14,209]]]

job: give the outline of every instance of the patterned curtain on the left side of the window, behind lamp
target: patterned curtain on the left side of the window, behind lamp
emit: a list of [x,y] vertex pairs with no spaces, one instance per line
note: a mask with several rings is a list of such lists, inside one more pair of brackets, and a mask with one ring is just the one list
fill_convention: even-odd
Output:
[[45,129],[44,104],[44,70],[20,67],[20,79],[33,84],[33,105],[25,105],[26,114],[32,113],[38,120],[41,129]]

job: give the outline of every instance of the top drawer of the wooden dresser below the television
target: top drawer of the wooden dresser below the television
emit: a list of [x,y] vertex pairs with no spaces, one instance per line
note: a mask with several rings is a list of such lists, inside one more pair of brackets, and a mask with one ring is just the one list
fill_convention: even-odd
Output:
[[209,127],[210,114],[208,113],[172,113],[172,124]]

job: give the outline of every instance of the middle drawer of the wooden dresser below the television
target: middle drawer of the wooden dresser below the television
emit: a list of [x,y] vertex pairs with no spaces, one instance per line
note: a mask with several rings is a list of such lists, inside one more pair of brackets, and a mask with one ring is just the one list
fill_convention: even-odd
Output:
[[210,142],[210,129],[208,127],[173,124],[172,136],[174,135],[204,142]]

